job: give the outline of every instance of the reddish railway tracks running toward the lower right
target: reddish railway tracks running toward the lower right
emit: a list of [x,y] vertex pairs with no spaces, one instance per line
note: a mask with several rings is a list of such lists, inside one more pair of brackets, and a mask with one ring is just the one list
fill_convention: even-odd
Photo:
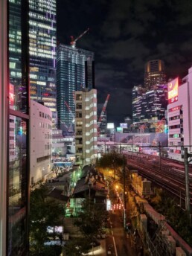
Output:
[[[185,168],[182,162],[171,161],[171,159],[161,159],[153,156],[139,156],[138,154],[126,154],[127,164],[138,170],[141,176],[144,176],[153,184],[158,185],[171,193],[182,208],[185,208]],[[189,190],[190,204],[192,205],[192,170],[189,168]]]

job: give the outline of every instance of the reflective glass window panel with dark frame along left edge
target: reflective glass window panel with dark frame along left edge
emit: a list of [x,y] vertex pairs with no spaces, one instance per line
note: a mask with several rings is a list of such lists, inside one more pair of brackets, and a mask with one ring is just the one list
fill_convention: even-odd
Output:
[[[28,255],[30,170],[28,1],[10,1],[9,8],[9,116],[7,149],[4,148],[8,153],[7,248],[4,255],[20,256]],[[6,126],[6,122],[3,125]]]

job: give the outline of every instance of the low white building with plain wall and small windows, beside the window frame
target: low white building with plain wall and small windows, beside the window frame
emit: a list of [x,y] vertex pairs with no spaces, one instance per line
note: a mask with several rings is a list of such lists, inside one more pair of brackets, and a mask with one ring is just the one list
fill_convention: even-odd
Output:
[[30,112],[30,184],[51,174],[52,112],[31,100]]

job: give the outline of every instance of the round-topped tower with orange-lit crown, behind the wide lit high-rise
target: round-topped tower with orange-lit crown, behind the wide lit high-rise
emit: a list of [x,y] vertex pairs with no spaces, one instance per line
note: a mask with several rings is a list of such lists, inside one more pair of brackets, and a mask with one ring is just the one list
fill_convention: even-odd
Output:
[[150,60],[144,67],[144,88],[151,89],[156,84],[166,82],[164,73],[164,61]]

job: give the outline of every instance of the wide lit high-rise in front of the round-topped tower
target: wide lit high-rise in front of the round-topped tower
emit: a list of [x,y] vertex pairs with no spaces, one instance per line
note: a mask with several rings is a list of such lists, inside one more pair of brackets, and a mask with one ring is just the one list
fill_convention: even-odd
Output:
[[132,89],[132,131],[164,132],[167,110],[167,85],[156,85],[144,90],[141,86]]

